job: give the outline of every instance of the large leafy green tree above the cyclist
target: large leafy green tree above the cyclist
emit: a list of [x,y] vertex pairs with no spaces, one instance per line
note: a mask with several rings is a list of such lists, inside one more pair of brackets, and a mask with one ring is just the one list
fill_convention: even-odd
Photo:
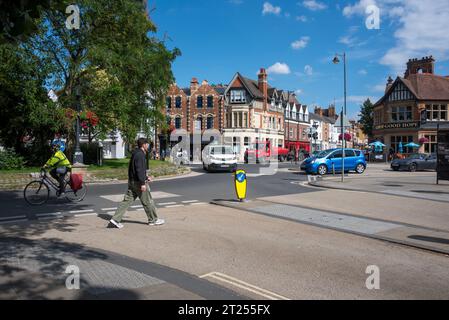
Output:
[[[2,141],[41,132],[43,141],[56,131],[65,131],[73,141],[78,102],[83,111],[98,117],[89,128],[91,139],[118,129],[128,141],[141,130],[163,123],[160,110],[173,82],[171,64],[180,54],[168,50],[155,37],[156,27],[145,15],[144,1],[79,0],[80,29],[68,29],[66,0],[43,10],[34,20],[37,30],[17,46],[4,44],[0,52]],[[10,64],[10,61],[14,61]],[[5,85],[5,87],[3,87]],[[47,98],[53,89],[56,103]],[[21,94],[23,93],[23,94]],[[151,108],[149,107],[151,106]],[[5,130],[6,128],[10,128]],[[14,132],[12,132],[14,131]]]

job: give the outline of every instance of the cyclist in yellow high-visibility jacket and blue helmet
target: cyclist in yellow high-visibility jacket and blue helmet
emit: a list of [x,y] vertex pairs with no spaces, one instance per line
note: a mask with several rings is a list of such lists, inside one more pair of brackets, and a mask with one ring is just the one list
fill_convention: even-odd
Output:
[[53,140],[51,143],[53,155],[48,159],[47,163],[42,167],[44,170],[50,170],[50,175],[59,182],[59,194],[65,193],[64,178],[67,172],[71,171],[72,165],[64,154],[65,144],[61,140]]

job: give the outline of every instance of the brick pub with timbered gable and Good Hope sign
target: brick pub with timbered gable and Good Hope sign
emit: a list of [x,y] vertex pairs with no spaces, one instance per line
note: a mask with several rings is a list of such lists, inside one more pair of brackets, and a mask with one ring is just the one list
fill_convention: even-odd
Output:
[[[433,57],[411,59],[403,78],[388,79],[385,95],[374,105],[375,140],[395,152],[409,142],[421,144],[419,152],[436,151],[437,123],[449,122],[449,77],[434,70]],[[403,148],[403,153],[414,151]]]

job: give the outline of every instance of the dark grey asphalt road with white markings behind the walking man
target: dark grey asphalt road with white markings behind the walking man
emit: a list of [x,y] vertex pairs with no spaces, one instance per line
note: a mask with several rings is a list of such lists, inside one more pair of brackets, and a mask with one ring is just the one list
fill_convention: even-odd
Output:
[[[241,165],[248,173],[248,199],[302,192],[319,192],[302,187],[298,182],[307,177],[297,171],[298,165],[279,163],[278,170],[268,171],[267,166],[256,164]],[[191,166],[192,174],[172,179],[160,179],[151,183],[152,196],[159,208],[193,208],[213,200],[235,199],[234,176],[229,172],[207,173],[201,165]],[[265,171],[264,171],[265,170]],[[87,196],[80,203],[70,203],[57,199],[52,194],[49,202],[42,206],[30,206],[23,199],[23,192],[0,191],[0,224],[27,220],[51,219],[63,216],[94,215],[114,211],[126,192],[127,183],[88,185]],[[131,211],[140,211],[137,199]]]

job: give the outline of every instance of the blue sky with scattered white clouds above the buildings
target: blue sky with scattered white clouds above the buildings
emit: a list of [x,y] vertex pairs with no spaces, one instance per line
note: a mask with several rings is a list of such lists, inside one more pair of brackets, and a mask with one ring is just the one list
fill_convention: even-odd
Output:
[[[348,114],[378,99],[389,75],[403,75],[408,58],[434,55],[436,73],[449,75],[449,1],[433,0],[149,0],[158,37],[182,51],[173,65],[178,85],[192,77],[227,84],[239,71],[271,86],[297,91],[301,103],[343,104],[347,53]],[[380,10],[368,29],[365,9]],[[416,23],[416,17],[420,17]]]

